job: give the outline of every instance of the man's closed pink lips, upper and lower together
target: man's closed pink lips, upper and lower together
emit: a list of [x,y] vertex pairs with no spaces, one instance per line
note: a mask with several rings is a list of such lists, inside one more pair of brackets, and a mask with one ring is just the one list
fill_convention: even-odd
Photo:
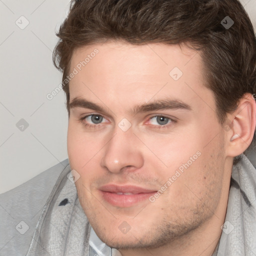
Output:
[[[130,207],[148,199],[156,190],[134,185],[107,184],[98,188],[105,201],[118,207]],[[119,193],[119,194],[117,194]],[[131,193],[131,194],[120,194]]]

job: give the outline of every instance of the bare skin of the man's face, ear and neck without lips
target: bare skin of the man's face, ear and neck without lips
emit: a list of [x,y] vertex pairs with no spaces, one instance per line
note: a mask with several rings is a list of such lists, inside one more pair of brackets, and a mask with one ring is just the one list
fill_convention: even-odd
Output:
[[[239,101],[226,130],[204,86],[200,54],[185,45],[108,41],[75,49],[70,70],[95,48],[99,52],[69,82],[70,102],[84,98],[102,110],[72,107],[67,135],[70,167],[80,175],[78,198],[91,226],[123,256],[211,255],[225,219],[233,157],[252,140],[255,100],[247,94]],[[176,81],[169,75],[175,66],[183,72]],[[191,109],[132,111],[166,98]],[[80,120],[91,114],[102,121]],[[175,121],[162,124],[155,115]],[[131,124],[127,131],[118,126],[123,118]],[[100,195],[107,183],[157,191],[196,152],[200,156],[153,202],[117,207]],[[123,221],[126,233],[118,228]]]

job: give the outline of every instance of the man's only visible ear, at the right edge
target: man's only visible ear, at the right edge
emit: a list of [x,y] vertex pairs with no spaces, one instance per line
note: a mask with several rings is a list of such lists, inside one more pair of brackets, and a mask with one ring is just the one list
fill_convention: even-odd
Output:
[[[234,112],[227,115],[226,155],[237,156],[243,153],[252,141],[256,125],[255,94],[245,93]],[[228,123],[229,122],[229,123]]]

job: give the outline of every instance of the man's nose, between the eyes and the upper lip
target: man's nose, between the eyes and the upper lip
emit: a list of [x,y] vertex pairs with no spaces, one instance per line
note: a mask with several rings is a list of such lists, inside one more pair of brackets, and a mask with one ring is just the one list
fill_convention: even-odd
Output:
[[143,166],[139,140],[130,128],[122,131],[116,127],[113,137],[104,146],[100,165],[108,171],[118,173],[124,169],[135,170]]

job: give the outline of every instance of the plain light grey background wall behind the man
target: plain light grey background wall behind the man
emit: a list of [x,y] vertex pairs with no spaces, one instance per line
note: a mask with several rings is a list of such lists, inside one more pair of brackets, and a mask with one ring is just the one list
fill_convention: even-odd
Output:
[[[256,31],[256,0],[241,2]],[[67,158],[65,96],[46,95],[61,83],[51,56],[68,8],[69,0],[0,0],[0,193]]]

